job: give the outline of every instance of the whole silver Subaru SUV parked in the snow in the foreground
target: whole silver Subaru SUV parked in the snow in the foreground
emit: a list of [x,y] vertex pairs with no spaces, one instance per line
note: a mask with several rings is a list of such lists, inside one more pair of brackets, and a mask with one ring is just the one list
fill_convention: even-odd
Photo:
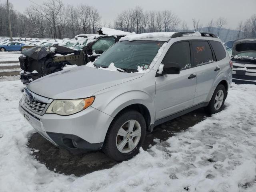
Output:
[[201,107],[222,110],[231,64],[213,34],[133,34],[93,63],[31,82],[19,110],[55,145],[102,148],[122,161],[138,153],[154,126]]

